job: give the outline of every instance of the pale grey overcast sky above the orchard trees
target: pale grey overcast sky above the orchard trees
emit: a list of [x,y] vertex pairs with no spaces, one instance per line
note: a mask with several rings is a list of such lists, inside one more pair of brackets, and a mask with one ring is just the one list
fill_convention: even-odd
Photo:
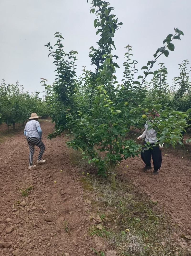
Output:
[[[155,51],[162,47],[163,40],[174,27],[184,32],[183,39],[175,40],[175,51],[169,57],[162,56],[169,81],[178,76],[178,64],[191,61],[190,53],[190,0],[108,0],[115,8],[119,22],[123,22],[115,36],[116,55],[120,70],[117,80],[123,75],[123,62],[128,44],[133,47],[133,59],[138,68],[153,59]],[[95,15],[89,14],[91,0],[0,0],[0,80],[15,83],[19,80],[25,90],[43,91],[40,78],[48,83],[55,80],[55,67],[48,58],[47,42],[55,43],[54,33],[59,31],[65,38],[65,52],[78,52],[78,75],[82,66],[93,70],[88,57],[89,48],[96,46]],[[157,64],[158,64],[157,63]],[[156,70],[158,65],[153,69]],[[139,72],[142,74],[142,71]]]

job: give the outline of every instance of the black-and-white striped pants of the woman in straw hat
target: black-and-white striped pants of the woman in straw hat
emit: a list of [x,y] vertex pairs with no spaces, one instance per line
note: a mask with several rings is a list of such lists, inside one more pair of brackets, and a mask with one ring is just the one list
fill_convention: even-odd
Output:
[[40,148],[40,152],[39,152],[39,155],[38,155],[38,161],[40,161],[41,158],[42,158],[42,155],[45,151],[45,145],[39,138],[36,138],[36,137],[26,136],[26,140],[28,142],[29,149],[30,149],[29,165],[31,166],[31,165],[33,165],[34,146],[37,146],[37,147]]

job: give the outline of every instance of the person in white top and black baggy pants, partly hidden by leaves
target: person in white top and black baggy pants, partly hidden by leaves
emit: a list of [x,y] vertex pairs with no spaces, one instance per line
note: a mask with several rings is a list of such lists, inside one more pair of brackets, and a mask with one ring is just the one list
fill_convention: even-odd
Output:
[[[153,112],[151,115],[153,119],[155,117],[158,117],[159,114],[156,112]],[[144,133],[139,136],[137,139],[145,139],[145,142],[150,142],[152,145],[152,148],[146,149],[143,148],[144,152],[141,152],[141,158],[143,162],[145,163],[145,167],[143,168],[143,172],[147,172],[149,169],[152,169],[151,167],[151,157],[153,159],[153,166],[154,166],[154,172],[153,175],[158,174],[158,170],[161,167],[162,164],[162,146],[159,144],[159,140],[156,137],[157,132],[152,128],[151,130],[148,130],[148,124],[145,124],[145,131]],[[158,144],[155,145],[155,143],[158,142]]]

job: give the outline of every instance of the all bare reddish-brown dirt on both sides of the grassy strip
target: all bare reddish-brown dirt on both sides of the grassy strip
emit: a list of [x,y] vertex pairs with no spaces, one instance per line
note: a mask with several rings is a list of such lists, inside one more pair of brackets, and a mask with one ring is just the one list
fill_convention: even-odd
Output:
[[[22,130],[0,144],[0,255],[95,255],[91,249],[95,238],[87,234],[96,195],[83,189],[81,170],[71,162],[73,151],[65,145],[67,137],[46,140],[53,124],[42,121],[41,127],[47,161],[35,170],[28,169],[29,149]],[[139,158],[118,167],[117,179],[130,181],[157,200],[172,225],[178,226],[178,237],[191,235],[190,152],[189,146],[163,151],[158,176],[152,176],[152,171],[142,173]],[[23,197],[21,190],[30,187],[29,195]],[[189,243],[181,245],[189,247]]]

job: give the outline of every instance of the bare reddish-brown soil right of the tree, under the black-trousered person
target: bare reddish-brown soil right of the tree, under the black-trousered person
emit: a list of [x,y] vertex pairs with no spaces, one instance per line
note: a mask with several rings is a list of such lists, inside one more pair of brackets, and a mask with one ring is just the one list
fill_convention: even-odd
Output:
[[[123,171],[136,187],[151,199],[157,200],[164,211],[171,216],[172,225],[178,225],[180,232],[191,235],[191,148],[189,145],[166,149],[162,153],[162,167],[159,175],[153,170],[143,173],[141,158],[131,158],[123,163]],[[128,171],[125,167],[128,165]]]

